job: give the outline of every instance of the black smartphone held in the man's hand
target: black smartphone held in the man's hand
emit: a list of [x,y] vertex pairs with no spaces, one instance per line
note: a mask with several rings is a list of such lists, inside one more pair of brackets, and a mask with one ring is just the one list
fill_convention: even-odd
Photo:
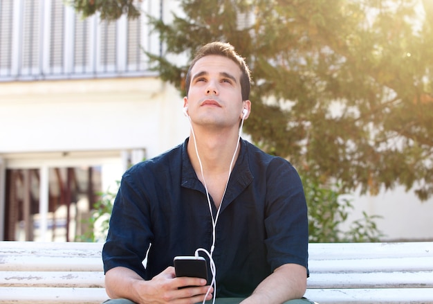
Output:
[[208,265],[205,258],[199,256],[176,256],[174,258],[176,276],[204,278],[208,280]]

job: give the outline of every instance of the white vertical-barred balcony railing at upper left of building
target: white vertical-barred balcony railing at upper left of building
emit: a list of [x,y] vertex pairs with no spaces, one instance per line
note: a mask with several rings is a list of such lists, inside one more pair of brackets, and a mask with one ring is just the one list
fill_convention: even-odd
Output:
[[140,1],[142,15],[116,22],[83,19],[64,0],[0,0],[0,82],[154,75],[143,50],[160,54],[145,14],[163,0]]

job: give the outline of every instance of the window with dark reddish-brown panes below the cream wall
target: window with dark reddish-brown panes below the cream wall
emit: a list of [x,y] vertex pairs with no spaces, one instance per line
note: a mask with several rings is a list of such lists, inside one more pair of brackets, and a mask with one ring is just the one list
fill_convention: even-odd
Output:
[[42,170],[6,170],[5,240],[74,241],[89,229],[101,168],[48,168],[48,213],[41,206]]

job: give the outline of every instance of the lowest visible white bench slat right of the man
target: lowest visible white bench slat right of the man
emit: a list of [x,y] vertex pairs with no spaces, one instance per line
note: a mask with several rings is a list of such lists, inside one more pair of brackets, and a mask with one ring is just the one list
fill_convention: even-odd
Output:
[[307,289],[305,296],[319,304],[433,303],[431,288]]

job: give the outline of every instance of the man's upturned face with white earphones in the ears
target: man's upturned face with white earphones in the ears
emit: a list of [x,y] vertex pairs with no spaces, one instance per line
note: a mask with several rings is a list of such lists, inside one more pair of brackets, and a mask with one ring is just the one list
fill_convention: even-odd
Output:
[[191,70],[188,96],[184,98],[188,114],[198,125],[232,127],[239,125],[242,109],[250,110],[250,101],[242,100],[241,69],[229,58],[208,55]]

